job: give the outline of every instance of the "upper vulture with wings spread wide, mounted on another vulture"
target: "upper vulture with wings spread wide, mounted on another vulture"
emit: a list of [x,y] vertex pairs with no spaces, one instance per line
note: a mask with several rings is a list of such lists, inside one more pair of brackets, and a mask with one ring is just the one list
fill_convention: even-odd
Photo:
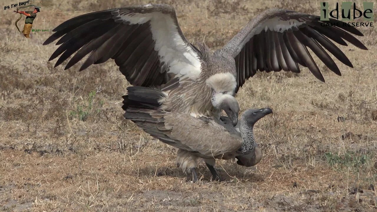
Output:
[[[88,55],[82,71],[112,58],[131,85],[161,89],[161,110],[216,120],[224,110],[233,126],[239,108],[227,100],[258,70],[299,73],[301,65],[324,82],[308,48],[337,75],[340,70],[329,53],[353,66],[333,42],[347,46],[348,41],[367,49],[354,37],[363,34],[353,26],[285,9],[257,15],[213,53],[205,44],[190,43],[178,25],[175,9],[164,4],[92,12],[67,20],[53,31],[43,45],[59,39],[56,45],[60,46],[49,58],[58,57],[55,67],[70,58],[64,68],[68,69]],[[180,149],[177,158],[184,155],[192,152]]]

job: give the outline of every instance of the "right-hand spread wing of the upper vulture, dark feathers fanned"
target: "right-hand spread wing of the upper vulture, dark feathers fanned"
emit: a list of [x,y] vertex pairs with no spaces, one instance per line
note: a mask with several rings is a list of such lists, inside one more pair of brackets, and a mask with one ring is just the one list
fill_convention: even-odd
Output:
[[341,75],[325,49],[345,65],[353,67],[346,55],[331,41],[344,46],[347,46],[345,41],[348,41],[367,50],[352,34],[363,36],[359,30],[339,20],[320,21],[320,17],[315,15],[269,9],[251,20],[223,50],[236,61],[237,90],[257,70],[270,72],[283,69],[299,73],[298,64],[308,67],[315,77],[324,82],[308,48],[331,71]]

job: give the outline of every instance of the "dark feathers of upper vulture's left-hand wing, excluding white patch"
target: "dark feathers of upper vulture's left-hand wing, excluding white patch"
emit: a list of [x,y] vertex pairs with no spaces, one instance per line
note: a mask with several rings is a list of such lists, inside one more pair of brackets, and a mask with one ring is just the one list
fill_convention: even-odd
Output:
[[49,61],[58,58],[56,67],[73,56],[64,68],[69,69],[89,54],[81,65],[82,71],[93,64],[104,63],[112,58],[132,85],[165,84],[169,80],[167,72],[170,64],[162,63],[158,49],[155,49],[156,41],[153,40],[151,21],[131,25],[121,18],[121,15],[133,14],[139,14],[141,17],[145,14],[148,17],[152,12],[171,17],[173,22],[166,24],[174,24],[182,41],[200,55],[199,50],[183,36],[172,6],[149,5],[92,12],[61,23],[53,30],[55,33],[43,43],[48,45],[59,39],[56,45],[60,46]]

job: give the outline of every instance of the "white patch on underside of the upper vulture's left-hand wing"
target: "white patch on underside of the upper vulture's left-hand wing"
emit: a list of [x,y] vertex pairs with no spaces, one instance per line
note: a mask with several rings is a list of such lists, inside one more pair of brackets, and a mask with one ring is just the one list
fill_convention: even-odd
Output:
[[169,14],[161,12],[119,14],[119,9],[114,14],[125,24],[144,24],[150,21],[155,51],[158,52],[160,60],[169,65],[168,72],[176,74],[179,78],[182,76],[191,79],[199,77],[201,73],[199,55],[182,39],[177,30],[178,26]]

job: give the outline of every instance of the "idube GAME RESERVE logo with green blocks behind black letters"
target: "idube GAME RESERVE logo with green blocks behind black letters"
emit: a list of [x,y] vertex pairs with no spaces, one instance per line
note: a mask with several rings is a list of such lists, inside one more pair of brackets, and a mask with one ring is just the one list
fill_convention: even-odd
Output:
[[[336,3],[336,7],[333,10],[329,9],[328,2],[321,2],[321,21],[328,21],[329,18],[342,20],[347,23],[340,22],[323,22],[322,26],[332,25],[348,25],[348,26],[373,26],[373,2],[363,2],[363,9],[357,8],[356,3],[342,2],[342,9],[339,8],[339,3]],[[353,8],[351,9],[351,6]],[[365,22],[352,22],[356,18],[363,17]],[[341,18],[341,19],[340,19]]]

